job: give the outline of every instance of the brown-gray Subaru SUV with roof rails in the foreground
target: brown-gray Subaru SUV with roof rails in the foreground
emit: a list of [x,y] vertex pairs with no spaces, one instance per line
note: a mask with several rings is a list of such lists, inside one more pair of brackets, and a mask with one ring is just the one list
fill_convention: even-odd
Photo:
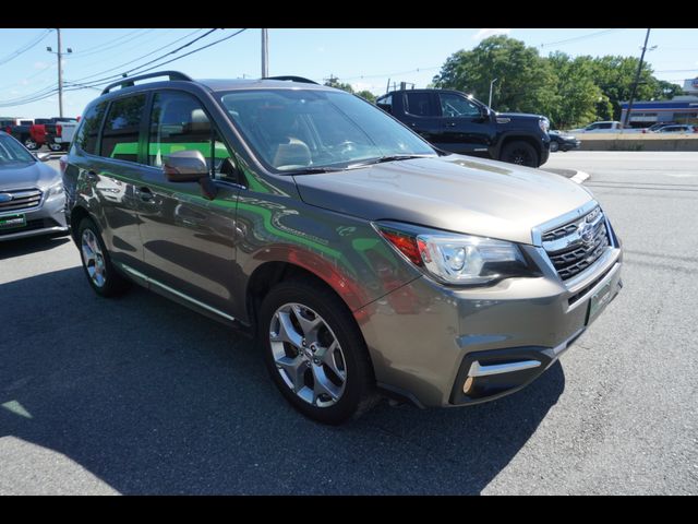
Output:
[[93,289],[134,282],[251,330],[284,396],[324,422],[380,395],[517,391],[621,287],[587,189],[435,151],[341,91],[165,72],[83,115],[63,179]]

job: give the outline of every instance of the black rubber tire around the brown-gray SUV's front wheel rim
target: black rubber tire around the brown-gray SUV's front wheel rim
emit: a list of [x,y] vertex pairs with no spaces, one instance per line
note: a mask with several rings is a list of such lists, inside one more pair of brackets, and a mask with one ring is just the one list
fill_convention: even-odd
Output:
[[[289,302],[302,303],[317,312],[339,342],[347,366],[347,382],[341,398],[332,406],[316,407],[299,398],[284,382],[276,368],[269,342],[269,327],[276,310]],[[304,281],[286,282],[275,286],[260,307],[257,336],[272,380],[284,397],[303,415],[323,424],[338,425],[360,413],[361,405],[371,395],[373,385],[368,352],[351,312],[332,290]]]

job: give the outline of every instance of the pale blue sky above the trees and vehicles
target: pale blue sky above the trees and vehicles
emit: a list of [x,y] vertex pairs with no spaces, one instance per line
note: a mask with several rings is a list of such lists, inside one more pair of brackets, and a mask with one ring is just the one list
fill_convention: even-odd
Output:
[[[121,73],[160,57],[206,31],[61,29],[63,49],[73,49],[72,55],[64,57],[63,80],[85,84]],[[236,31],[239,29],[216,31],[168,59],[232,35]],[[507,34],[521,39],[529,46],[535,46],[543,56],[561,50],[570,56],[639,57],[645,32],[642,28],[276,28],[269,29],[269,74],[296,74],[321,82],[334,74],[340,81],[351,83],[356,90],[365,88],[381,94],[385,92],[388,79],[425,86],[449,55],[471,49],[492,34]],[[260,29],[250,28],[163,69],[179,70],[193,78],[256,78],[261,72],[260,40]],[[27,48],[35,41],[36,45]],[[56,87],[57,57],[46,50],[47,46],[56,50],[56,32],[47,34],[44,28],[0,29],[0,115],[28,118],[58,115],[55,94],[43,100],[16,105],[16,100],[27,95]],[[652,46],[657,48],[647,52],[646,60],[658,78],[682,84],[684,79],[698,76],[698,29],[652,29],[648,47]],[[24,48],[27,49],[14,57],[15,51]],[[158,48],[163,49],[156,51]],[[144,55],[148,56],[141,59]],[[64,115],[80,115],[98,94],[95,88],[67,92]]]

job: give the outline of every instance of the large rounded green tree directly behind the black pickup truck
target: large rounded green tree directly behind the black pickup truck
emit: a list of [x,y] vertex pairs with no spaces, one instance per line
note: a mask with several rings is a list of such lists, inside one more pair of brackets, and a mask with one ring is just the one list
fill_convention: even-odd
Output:
[[436,87],[464,91],[488,100],[490,82],[498,111],[550,114],[559,103],[550,61],[534,47],[506,36],[485,38],[474,49],[452,55],[434,76]]

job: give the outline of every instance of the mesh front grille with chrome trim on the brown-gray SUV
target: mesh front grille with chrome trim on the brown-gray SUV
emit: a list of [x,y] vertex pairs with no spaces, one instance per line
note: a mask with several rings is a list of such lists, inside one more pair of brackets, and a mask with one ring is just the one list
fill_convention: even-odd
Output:
[[543,248],[563,281],[593,264],[609,246],[609,231],[600,207],[543,234]]

